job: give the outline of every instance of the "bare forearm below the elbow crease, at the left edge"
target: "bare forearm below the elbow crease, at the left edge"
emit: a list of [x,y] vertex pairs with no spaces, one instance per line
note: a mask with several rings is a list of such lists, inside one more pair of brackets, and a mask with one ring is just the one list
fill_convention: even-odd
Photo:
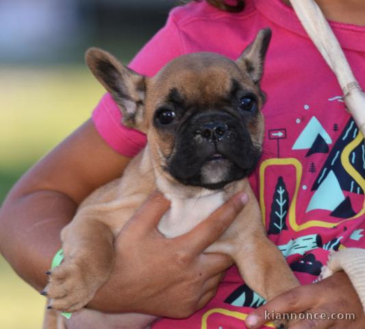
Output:
[[10,195],[0,210],[0,250],[23,280],[40,291],[45,271],[60,249],[60,232],[71,221],[77,204],[56,191]]

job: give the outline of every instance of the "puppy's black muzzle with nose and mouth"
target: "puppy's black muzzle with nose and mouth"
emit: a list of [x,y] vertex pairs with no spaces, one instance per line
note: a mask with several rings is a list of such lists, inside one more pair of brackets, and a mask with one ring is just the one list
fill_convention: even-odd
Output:
[[[244,121],[231,113],[207,110],[181,125],[168,171],[179,182],[205,188],[223,188],[251,172],[260,150],[251,142]],[[203,168],[209,168],[210,172]],[[210,184],[209,176],[221,175]]]

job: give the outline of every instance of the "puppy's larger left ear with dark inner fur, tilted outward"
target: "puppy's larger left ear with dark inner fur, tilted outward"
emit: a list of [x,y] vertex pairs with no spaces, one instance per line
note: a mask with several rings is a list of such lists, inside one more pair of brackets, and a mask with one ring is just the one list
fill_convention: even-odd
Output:
[[86,64],[97,80],[112,95],[123,114],[123,123],[144,131],[146,78],[128,69],[110,53],[98,48],[86,51]]

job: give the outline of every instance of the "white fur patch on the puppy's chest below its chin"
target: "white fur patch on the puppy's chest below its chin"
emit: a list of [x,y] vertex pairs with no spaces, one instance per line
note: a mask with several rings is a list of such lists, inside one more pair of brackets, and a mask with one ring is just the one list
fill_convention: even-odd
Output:
[[168,238],[184,234],[220,207],[225,202],[224,196],[223,192],[191,199],[165,195],[171,200],[171,208],[160,220],[158,229]]

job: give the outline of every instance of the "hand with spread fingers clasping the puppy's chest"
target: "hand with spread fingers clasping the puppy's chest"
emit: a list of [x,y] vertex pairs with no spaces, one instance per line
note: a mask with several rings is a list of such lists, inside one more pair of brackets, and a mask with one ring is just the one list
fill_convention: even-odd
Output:
[[247,203],[238,193],[190,232],[166,239],[157,229],[170,203],[153,193],[114,242],[108,282],[89,307],[112,313],[188,317],[214,297],[232,260],[203,251],[225,232]]

